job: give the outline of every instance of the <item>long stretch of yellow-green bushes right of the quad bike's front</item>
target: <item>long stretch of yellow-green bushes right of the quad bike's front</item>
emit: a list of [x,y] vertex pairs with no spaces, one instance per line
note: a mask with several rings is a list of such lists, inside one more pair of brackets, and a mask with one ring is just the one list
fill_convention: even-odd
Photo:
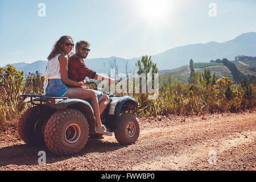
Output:
[[255,107],[255,86],[233,83],[230,78],[222,77],[216,84],[209,84],[209,79],[201,78],[198,74],[194,74],[191,84],[177,81],[164,83],[156,100],[148,100],[148,94],[133,94],[142,106],[136,114],[146,117],[159,114],[190,115]]

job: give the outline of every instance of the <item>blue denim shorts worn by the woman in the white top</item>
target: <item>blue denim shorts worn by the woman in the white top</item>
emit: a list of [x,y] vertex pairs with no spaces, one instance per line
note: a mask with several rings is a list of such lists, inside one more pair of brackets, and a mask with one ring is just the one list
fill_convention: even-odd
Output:
[[67,93],[67,86],[63,84],[61,79],[48,81],[46,88],[46,96],[49,97],[64,97]]

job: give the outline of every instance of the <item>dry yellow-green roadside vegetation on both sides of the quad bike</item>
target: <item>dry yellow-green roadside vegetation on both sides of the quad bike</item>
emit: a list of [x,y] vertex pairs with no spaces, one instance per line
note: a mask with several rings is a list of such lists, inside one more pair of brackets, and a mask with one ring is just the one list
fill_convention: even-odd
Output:
[[[151,57],[143,56],[137,62],[137,67],[138,74],[158,73]],[[138,117],[236,112],[256,105],[255,82],[247,81],[246,77],[242,78],[235,84],[230,78],[218,79],[210,69],[205,69],[203,73],[193,72],[189,82],[181,82],[175,78],[166,81],[160,77],[159,96],[154,100],[148,98],[152,95],[148,93],[128,95],[138,100],[141,106],[141,109],[135,111]],[[0,68],[0,130],[7,129],[6,121],[19,118],[31,107],[23,103],[20,95],[44,94],[43,82],[44,76],[40,76],[39,72],[24,77],[23,72],[16,71],[11,65]],[[152,86],[154,87],[154,83]]]

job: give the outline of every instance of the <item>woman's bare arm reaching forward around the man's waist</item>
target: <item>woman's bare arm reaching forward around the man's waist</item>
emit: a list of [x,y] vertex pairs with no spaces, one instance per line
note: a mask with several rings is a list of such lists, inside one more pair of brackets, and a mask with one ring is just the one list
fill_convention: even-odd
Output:
[[70,80],[68,78],[68,57],[64,55],[60,55],[59,58],[60,63],[60,74],[61,74],[61,80],[65,85],[71,85],[71,86],[82,86],[82,82],[77,82]]

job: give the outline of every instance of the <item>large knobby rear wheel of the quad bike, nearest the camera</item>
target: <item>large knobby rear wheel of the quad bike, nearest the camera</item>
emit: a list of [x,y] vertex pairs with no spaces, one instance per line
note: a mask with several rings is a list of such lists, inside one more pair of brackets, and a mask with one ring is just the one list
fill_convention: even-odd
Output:
[[46,146],[56,155],[80,152],[88,140],[88,135],[88,121],[76,109],[57,111],[49,118],[44,130]]

